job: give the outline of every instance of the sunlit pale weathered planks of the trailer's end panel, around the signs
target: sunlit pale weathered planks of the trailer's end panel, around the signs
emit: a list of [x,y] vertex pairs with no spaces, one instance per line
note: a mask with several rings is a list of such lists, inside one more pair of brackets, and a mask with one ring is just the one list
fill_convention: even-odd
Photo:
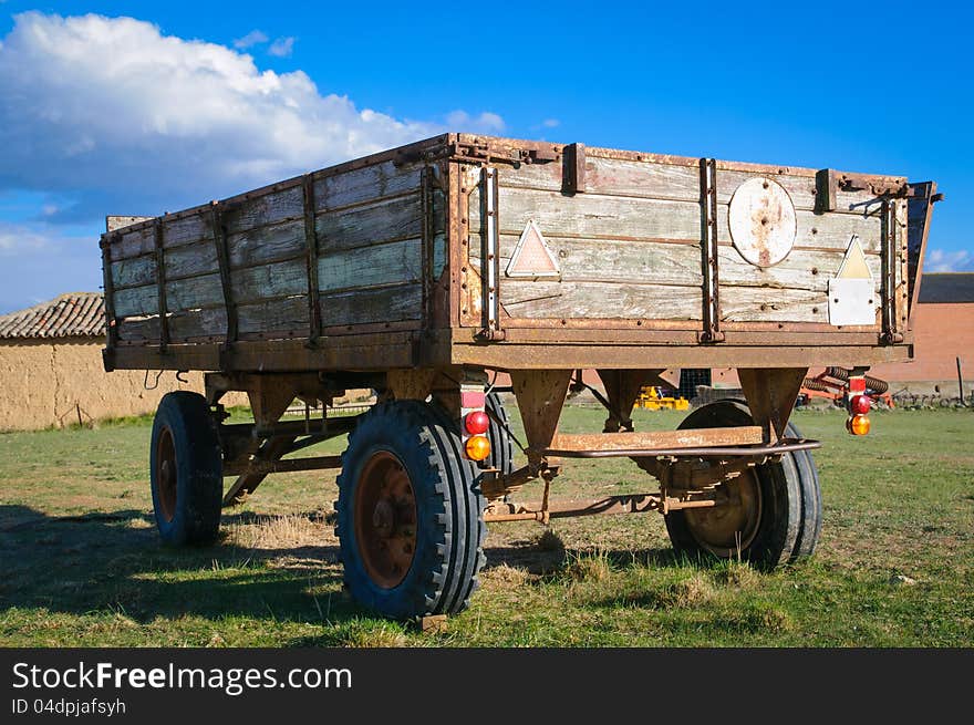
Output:
[[[560,163],[506,167],[499,174],[500,300],[525,319],[639,318],[700,320],[703,307],[700,168],[590,156],[583,193],[562,193]],[[835,213],[816,214],[815,176],[781,169],[716,173],[719,305],[734,322],[828,322],[828,280],[858,235],[880,307],[881,205],[867,190],[840,191]],[[796,207],[795,246],[780,263],[748,263],[733,246],[728,203],[742,183],[769,176]],[[474,231],[470,263],[479,270],[479,209],[468,210]],[[511,278],[505,269],[521,231],[533,220],[553,253],[560,279]]]

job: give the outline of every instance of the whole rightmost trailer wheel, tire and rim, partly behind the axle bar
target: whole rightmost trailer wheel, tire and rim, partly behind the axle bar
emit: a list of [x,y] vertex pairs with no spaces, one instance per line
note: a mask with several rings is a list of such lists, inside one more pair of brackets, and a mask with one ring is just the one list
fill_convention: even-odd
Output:
[[[680,428],[753,424],[745,403],[723,400],[697,408]],[[788,435],[800,437],[791,424]],[[815,551],[821,531],[821,493],[808,452],[786,453],[778,462],[755,466],[726,487],[732,504],[666,515],[666,530],[677,552],[740,557],[774,568]]]

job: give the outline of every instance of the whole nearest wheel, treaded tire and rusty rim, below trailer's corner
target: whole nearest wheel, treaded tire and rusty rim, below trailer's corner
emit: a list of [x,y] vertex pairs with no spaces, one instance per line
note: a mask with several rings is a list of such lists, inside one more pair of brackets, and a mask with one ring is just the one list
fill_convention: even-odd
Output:
[[335,531],[363,605],[410,619],[466,609],[484,566],[484,499],[459,432],[433,405],[380,403],[349,437]]

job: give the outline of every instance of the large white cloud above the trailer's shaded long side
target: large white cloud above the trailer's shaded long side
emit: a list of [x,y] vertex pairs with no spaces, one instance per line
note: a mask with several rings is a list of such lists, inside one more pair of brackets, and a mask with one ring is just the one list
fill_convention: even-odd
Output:
[[0,190],[69,196],[61,220],[175,210],[441,131],[132,18],[14,21],[0,45]]

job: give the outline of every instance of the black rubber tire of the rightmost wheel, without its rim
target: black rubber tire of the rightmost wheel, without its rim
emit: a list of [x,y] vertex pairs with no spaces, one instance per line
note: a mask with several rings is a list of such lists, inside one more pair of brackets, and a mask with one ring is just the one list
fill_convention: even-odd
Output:
[[[722,400],[695,410],[678,427],[742,425],[754,425],[747,404]],[[790,423],[787,435],[800,437]],[[786,453],[778,462],[758,466],[755,473],[763,500],[761,516],[755,537],[740,550],[740,558],[770,569],[810,556],[821,532],[821,491],[811,455],[804,450]],[[665,520],[670,540],[678,553],[694,558],[714,556],[694,537],[685,511],[672,511]]]

